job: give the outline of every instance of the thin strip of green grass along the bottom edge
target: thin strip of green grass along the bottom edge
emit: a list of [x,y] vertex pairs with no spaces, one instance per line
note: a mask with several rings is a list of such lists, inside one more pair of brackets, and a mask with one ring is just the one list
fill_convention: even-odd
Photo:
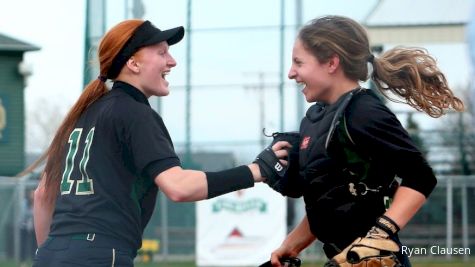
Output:
[[[463,260],[413,260],[413,267],[475,267],[475,257],[471,257],[468,262]],[[30,267],[31,264],[19,265],[14,262],[0,261],[0,267]],[[194,262],[156,262],[156,263],[137,263],[135,267],[195,267]],[[304,262],[302,267],[321,267],[323,266],[322,262]]]

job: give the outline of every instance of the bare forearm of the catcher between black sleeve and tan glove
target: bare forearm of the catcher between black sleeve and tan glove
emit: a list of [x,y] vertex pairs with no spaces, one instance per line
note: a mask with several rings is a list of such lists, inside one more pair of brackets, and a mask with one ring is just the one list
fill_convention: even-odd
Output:
[[425,196],[409,187],[401,186],[394,195],[391,207],[385,215],[403,228],[425,203]]

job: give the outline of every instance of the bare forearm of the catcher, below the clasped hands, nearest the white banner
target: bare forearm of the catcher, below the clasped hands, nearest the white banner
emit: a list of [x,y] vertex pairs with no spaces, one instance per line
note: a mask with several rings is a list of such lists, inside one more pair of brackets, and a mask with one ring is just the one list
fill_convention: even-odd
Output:
[[297,255],[316,239],[317,237],[310,231],[310,225],[305,215],[300,224],[289,233],[282,243],[282,247],[286,247],[287,251],[291,251],[293,255]]

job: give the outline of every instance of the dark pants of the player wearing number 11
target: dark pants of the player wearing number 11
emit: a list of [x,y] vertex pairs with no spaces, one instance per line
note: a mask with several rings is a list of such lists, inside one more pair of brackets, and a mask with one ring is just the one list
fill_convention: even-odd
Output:
[[95,234],[49,237],[33,267],[133,267],[135,253],[120,242]]

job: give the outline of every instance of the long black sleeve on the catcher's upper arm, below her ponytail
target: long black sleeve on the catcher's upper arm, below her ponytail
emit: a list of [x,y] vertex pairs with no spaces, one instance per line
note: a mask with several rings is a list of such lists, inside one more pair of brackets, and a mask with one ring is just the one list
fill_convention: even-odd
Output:
[[357,147],[393,169],[402,179],[402,186],[429,196],[437,183],[432,168],[394,113],[376,96],[359,94],[346,116]]

